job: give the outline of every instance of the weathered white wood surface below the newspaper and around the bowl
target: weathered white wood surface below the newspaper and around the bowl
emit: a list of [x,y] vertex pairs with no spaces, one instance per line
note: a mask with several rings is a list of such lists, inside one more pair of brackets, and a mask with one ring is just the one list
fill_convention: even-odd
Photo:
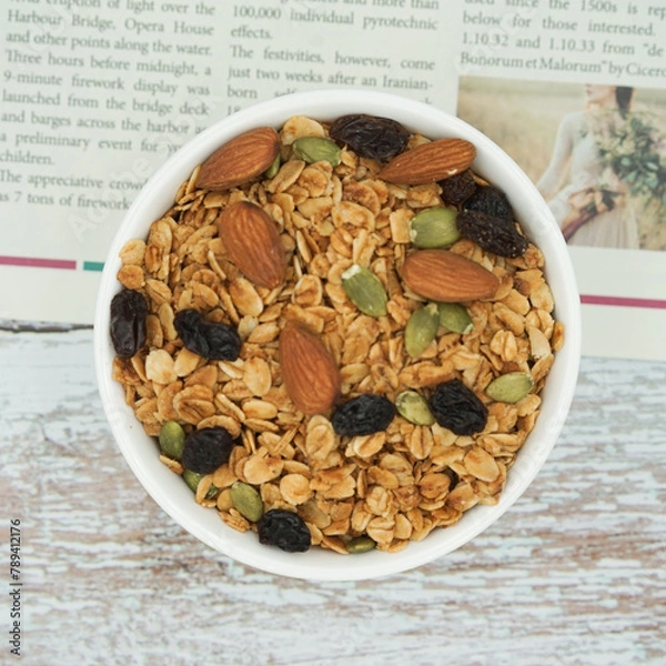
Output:
[[110,435],[90,330],[0,331],[0,571],[18,517],[26,582],[22,657],[7,601],[2,664],[666,664],[666,364],[585,359],[521,501],[363,583],[263,574],[174,526]]

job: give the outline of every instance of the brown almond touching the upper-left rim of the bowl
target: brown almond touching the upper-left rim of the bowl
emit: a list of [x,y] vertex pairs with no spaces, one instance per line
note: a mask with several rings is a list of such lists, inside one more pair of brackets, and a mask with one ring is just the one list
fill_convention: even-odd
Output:
[[273,128],[256,128],[219,148],[203,162],[196,186],[228,190],[261,175],[280,152],[280,137]]

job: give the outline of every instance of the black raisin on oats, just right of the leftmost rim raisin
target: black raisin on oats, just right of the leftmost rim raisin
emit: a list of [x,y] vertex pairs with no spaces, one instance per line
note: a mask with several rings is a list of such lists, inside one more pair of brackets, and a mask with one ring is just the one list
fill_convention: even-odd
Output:
[[209,322],[196,310],[181,310],[173,325],[185,347],[209,361],[235,361],[241,353],[241,339],[234,329]]

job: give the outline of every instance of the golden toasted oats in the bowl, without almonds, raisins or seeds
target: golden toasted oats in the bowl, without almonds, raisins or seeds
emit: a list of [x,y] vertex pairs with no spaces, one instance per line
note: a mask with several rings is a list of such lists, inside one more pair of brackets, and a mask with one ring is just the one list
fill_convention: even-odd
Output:
[[[350,539],[370,537],[379,549],[396,552],[455,524],[476,504],[497,503],[538,416],[564,331],[538,248],[506,259],[462,239],[448,250],[492,271],[500,287],[491,299],[465,303],[468,332],[440,326],[418,356],[408,355],[405,326],[424,305],[401,280],[412,249],[410,221],[446,203],[442,188],[380,180],[380,162],[349,148],[335,167],[307,163],[291,150],[295,139],[326,137],[327,129],[310,118],[290,119],[280,130],[282,163],[273,178],[214,192],[196,186],[195,170],[148,238],[124,245],[118,280],[147,299],[147,339],[130,359],[114,360],[113,376],[149,435],[178,422],[186,433],[223,427],[240,444],[229,462],[198,480],[195,492],[195,501],[231,527],[256,528],[232,502],[231,488],[241,481],[256,488],[264,511],[297,513],[313,545],[346,554]],[[408,147],[427,141],[415,134]],[[278,287],[258,286],[228,258],[216,221],[239,201],[260,205],[279,226],[287,262]],[[350,301],[342,275],[354,264],[381,281],[385,315],[363,314]],[[185,349],[174,327],[183,310],[235,327],[238,360],[206,361]],[[487,407],[485,427],[456,435],[436,422],[416,425],[396,415],[382,432],[336,434],[330,413],[304,415],[285,391],[279,336],[294,321],[337,363],[342,400],[371,393],[395,402],[405,390],[427,395],[455,379]],[[528,373],[531,392],[515,403],[488,397],[488,384],[511,372]],[[178,460],[161,460],[183,474]]]

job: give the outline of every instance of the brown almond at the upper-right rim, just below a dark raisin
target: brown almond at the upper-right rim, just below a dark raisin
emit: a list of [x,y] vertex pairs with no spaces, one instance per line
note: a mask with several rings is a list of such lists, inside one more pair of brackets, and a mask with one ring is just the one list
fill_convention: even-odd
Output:
[[423,185],[467,169],[476,148],[464,139],[437,139],[407,150],[389,162],[377,178],[402,185]]

